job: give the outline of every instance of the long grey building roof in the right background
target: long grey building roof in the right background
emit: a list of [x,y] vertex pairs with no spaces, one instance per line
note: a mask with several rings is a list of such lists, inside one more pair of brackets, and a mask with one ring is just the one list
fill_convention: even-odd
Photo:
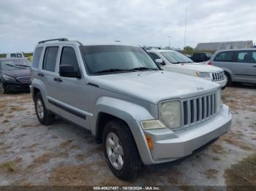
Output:
[[234,41],[234,42],[205,42],[198,43],[196,50],[226,50],[253,47],[252,41]]

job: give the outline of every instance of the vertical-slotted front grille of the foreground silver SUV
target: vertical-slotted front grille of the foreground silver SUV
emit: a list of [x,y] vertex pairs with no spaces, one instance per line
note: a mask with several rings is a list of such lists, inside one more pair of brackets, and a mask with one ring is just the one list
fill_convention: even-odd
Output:
[[185,99],[182,101],[182,107],[182,126],[187,127],[208,120],[217,113],[216,92]]

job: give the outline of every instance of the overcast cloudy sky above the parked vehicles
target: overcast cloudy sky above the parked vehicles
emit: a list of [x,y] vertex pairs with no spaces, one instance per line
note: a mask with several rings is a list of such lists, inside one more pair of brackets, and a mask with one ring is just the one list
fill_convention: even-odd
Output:
[[255,42],[255,7],[255,0],[0,0],[0,52],[31,52],[37,42],[60,37],[167,47],[170,36],[176,48]]

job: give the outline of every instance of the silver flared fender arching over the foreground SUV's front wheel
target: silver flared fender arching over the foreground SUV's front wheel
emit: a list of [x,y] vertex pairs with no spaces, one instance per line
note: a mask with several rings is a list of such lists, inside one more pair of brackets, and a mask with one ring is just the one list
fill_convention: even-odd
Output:
[[95,127],[91,129],[91,133],[94,136],[98,133],[97,121],[100,112],[111,114],[124,120],[124,122],[127,122],[127,125],[132,132],[132,136],[135,139],[135,143],[137,144],[137,147],[139,146],[138,151],[143,163],[155,163],[151,156],[151,152],[148,149],[146,137],[140,127],[140,121],[154,119],[148,110],[143,108],[143,106],[132,104],[128,101],[123,101],[117,98],[101,97],[97,100],[94,109],[94,117],[91,121],[91,127]]

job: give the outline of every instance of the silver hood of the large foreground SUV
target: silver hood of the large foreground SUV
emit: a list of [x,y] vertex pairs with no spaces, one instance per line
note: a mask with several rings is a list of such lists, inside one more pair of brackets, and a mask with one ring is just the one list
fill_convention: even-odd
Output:
[[189,96],[217,90],[219,85],[197,77],[176,74],[170,71],[141,71],[123,74],[94,76],[91,83],[100,88],[138,98],[152,104],[170,98]]

